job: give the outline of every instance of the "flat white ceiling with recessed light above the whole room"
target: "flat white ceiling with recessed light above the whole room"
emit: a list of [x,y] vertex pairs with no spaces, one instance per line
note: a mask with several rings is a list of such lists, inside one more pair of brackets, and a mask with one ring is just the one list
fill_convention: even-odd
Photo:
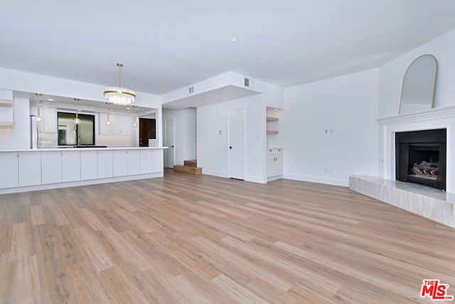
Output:
[[125,86],[157,95],[228,71],[289,87],[376,68],[455,28],[454,0],[2,0],[0,8],[1,67],[117,85],[122,62]]

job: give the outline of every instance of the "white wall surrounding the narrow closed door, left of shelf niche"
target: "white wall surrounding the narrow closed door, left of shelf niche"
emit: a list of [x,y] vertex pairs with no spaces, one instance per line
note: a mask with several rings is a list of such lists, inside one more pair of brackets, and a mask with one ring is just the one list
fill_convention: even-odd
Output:
[[284,89],[255,80],[255,90],[262,94],[198,108],[198,166],[203,168],[203,174],[228,177],[228,111],[243,108],[245,180],[267,182],[265,109],[267,105],[283,108]]

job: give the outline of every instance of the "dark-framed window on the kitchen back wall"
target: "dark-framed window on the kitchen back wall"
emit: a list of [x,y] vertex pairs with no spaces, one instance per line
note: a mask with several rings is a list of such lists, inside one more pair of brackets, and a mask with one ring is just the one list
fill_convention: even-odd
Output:
[[58,112],[58,145],[95,145],[95,115],[78,114],[80,124],[76,125],[75,113]]

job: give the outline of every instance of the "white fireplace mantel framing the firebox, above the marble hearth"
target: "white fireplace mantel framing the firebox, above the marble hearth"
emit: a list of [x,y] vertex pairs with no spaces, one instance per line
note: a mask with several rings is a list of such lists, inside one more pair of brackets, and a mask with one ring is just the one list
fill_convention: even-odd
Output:
[[382,174],[395,180],[395,133],[446,129],[446,192],[455,193],[455,107],[434,108],[378,119],[382,125]]

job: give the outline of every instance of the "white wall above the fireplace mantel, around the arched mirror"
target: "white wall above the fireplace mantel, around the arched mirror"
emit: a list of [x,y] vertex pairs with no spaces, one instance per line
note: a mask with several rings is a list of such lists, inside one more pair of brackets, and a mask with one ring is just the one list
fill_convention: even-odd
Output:
[[455,30],[430,41],[379,69],[379,117],[398,115],[403,77],[419,56],[432,54],[438,61],[434,108],[455,105]]

